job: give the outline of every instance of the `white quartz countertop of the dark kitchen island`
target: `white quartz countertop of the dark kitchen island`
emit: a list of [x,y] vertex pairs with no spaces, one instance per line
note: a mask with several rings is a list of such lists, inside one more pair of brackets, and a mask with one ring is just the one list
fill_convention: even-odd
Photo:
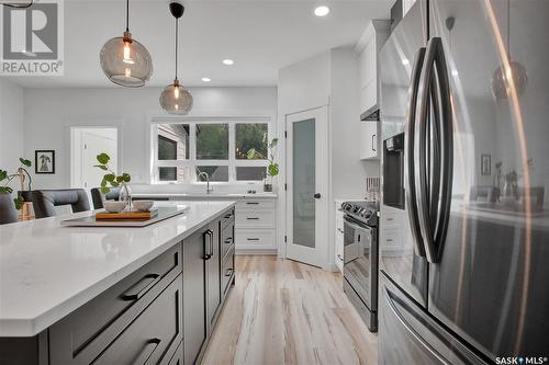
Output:
[[[177,203],[160,203],[169,205]],[[90,212],[0,226],[0,337],[33,337],[235,205],[184,202],[143,228],[60,227]]]

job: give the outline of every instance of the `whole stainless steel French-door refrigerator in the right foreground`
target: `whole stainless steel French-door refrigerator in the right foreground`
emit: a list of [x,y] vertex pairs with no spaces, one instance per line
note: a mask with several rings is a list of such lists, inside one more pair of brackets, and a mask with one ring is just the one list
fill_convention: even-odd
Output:
[[380,363],[548,363],[549,1],[417,0],[380,57]]

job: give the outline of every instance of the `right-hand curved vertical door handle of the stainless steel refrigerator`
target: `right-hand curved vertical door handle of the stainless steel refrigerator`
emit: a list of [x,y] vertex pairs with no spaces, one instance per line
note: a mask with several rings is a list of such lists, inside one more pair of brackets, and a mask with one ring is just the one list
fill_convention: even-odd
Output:
[[[427,138],[429,130],[427,123],[432,106],[429,100],[433,101],[435,107],[433,114],[436,137],[433,140],[435,142],[435,163],[433,170],[430,170],[435,174],[433,179],[429,176],[430,171],[427,167],[427,151],[430,150],[430,141]],[[423,242],[427,261],[437,263],[441,254],[442,242],[446,237],[450,216],[451,156],[453,151],[449,80],[442,41],[439,37],[430,38],[427,43],[425,62],[419,81],[419,106],[416,121],[415,133],[419,136],[419,142],[415,146],[414,153],[418,157],[419,162],[418,173],[415,174],[415,184],[419,187],[419,193],[416,194],[419,228],[424,238]],[[430,181],[427,181],[428,179]],[[429,184],[435,184],[436,186],[429,186]],[[434,203],[430,207],[429,201]]]

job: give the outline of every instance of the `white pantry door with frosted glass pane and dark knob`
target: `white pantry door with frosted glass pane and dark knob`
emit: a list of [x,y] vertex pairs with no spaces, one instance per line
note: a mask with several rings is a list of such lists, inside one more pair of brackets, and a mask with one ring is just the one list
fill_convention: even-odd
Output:
[[323,266],[328,244],[327,107],[287,116],[287,258]]

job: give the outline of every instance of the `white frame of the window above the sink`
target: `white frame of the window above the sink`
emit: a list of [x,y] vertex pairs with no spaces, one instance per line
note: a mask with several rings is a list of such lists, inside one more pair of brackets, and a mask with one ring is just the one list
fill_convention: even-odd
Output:
[[[158,160],[158,125],[159,124],[188,124],[189,125],[189,158],[186,160]],[[228,125],[228,159],[227,160],[198,160],[197,159],[197,125],[198,124],[227,124]],[[205,182],[197,180],[197,166],[227,166],[228,181],[211,182],[211,184],[249,184],[260,180],[236,180],[237,167],[265,167],[268,160],[238,160],[236,159],[236,125],[237,124],[267,124],[268,141],[273,138],[272,118],[270,116],[202,116],[202,117],[153,117],[150,118],[150,183],[152,184],[191,184],[203,185]],[[160,181],[158,168],[190,167],[189,181]]]

